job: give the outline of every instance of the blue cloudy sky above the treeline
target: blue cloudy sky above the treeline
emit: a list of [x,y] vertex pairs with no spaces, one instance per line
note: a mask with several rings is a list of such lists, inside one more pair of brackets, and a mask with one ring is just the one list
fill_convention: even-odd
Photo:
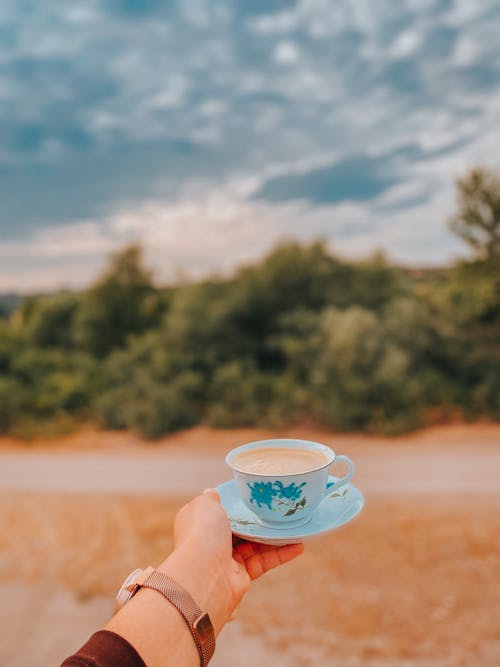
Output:
[[498,0],[2,0],[0,290],[158,282],[283,239],[443,265],[500,168]]

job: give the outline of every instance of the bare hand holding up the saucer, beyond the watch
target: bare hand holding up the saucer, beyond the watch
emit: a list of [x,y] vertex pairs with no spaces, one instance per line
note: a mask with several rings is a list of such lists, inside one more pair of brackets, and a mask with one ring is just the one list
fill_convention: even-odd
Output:
[[274,547],[244,540],[233,543],[229,520],[214,489],[207,489],[179,511],[174,544],[175,551],[165,561],[165,571],[175,574],[172,565],[177,554],[183,565],[182,572],[176,567],[178,576],[182,576],[188,590],[192,588],[198,604],[209,610],[217,632],[229,620],[253,579],[303,551],[302,544]]

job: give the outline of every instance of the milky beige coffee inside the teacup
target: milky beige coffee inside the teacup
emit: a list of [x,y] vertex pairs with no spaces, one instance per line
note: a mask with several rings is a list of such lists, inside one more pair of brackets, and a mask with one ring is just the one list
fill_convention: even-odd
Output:
[[294,475],[328,465],[326,454],[292,447],[259,447],[241,452],[231,466],[254,475]]

